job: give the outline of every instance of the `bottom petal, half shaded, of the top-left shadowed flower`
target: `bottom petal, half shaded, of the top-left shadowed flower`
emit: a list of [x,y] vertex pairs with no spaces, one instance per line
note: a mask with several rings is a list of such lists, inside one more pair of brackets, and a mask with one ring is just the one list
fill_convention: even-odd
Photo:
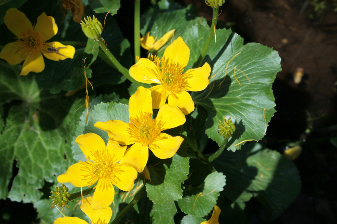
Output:
[[44,61],[40,51],[29,55],[23,63],[20,75],[27,75],[29,72],[42,72]]

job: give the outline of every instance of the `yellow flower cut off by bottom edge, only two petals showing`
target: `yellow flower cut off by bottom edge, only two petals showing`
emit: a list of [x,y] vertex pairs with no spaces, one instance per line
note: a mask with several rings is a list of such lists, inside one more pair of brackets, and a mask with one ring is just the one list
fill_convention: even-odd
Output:
[[[94,210],[91,206],[92,197],[86,197],[81,204],[81,210],[90,218],[91,224],[107,224],[110,222],[112,210],[110,207]],[[54,224],[88,224],[78,217],[57,218]]]

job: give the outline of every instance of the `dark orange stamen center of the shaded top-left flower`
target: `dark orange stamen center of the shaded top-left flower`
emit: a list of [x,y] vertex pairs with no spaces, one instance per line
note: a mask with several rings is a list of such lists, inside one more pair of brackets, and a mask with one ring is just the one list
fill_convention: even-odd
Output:
[[39,32],[34,32],[31,29],[27,29],[26,32],[22,32],[17,39],[21,43],[19,50],[24,49],[21,57],[26,57],[28,54],[32,55],[40,51],[45,42],[45,40],[42,41],[41,34]]

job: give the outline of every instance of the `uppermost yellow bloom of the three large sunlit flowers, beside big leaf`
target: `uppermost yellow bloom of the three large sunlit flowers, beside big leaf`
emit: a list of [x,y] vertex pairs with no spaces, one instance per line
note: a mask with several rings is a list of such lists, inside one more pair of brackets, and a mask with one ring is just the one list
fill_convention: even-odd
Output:
[[209,84],[208,77],[211,67],[205,63],[203,67],[196,69],[185,69],[190,55],[190,49],[181,37],[165,49],[161,59],[151,57],[141,58],[135,65],[131,66],[129,73],[132,78],[144,83],[158,83],[150,88],[152,106],[160,108],[166,102],[177,106],[184,114],[194,110],[194,102],[186,91],[204,90]]

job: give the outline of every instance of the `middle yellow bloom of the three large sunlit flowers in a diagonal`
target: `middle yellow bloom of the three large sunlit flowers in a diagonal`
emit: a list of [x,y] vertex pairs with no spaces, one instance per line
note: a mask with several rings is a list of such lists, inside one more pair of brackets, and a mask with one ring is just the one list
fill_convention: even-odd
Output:
[[109,139],[122,145],[131,145],[125,152],[130,159],[123,160],[142,172],[147,163],[150,149],[160,159],[171,158],[184,139],[161,133],[162,130],[177,127],[185,123],[183,113],[176,106],[164,104],[152,119],[151,91],[142,86],[137,88],[129,100],[130,122],[109,120],[96,122],[95,127],[108,132]]

